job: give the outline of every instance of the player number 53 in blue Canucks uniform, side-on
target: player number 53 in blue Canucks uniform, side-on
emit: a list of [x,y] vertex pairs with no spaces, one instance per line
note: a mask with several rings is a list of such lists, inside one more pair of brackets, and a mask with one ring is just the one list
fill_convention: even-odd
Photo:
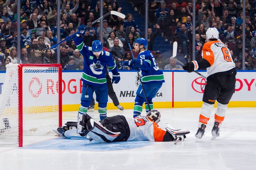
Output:
[[[138,58],[131,61],[120,62],[120,65],[125,65],[136,70],[136,68],[141,70],[141,81],[144,86],[144,90],[147,95],[148,103],[151,109],[153,109],[152,99],[156,96],[158,90],[162,87],[164,83],[163,71],[159,69],[156,64],[156,60],[151,51],[146,50],[148,41],[145,38],[138,38],[134,41],[135,52],[138,52]],[[146,112],[148,113],[149,108],[146,103],[146,98],[142,91],[141,85],[136,92],[136,98],[133,108],[133,117],[140,116],[142,112],[142,105],[145,102]]]

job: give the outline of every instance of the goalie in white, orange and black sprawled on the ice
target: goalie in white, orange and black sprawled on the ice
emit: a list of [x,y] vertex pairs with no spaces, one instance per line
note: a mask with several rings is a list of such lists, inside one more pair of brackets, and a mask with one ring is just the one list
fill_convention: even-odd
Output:
[[[135,118],[116,115],[106,117],[98,122],[92,119],[88,114],[78,114],[77,133],[81,136],[89,136],[100,142],[118,142],[118,141],[174,141],[177,138],[184,140],[189,131],[184,129],[174,129],[167,124],[164,129],[159,128],[157,123],[160,121],[161,115],[157,110],[151,110],[146,116],[138,116]],[[68,137],[68,131],[76,125],[76,122],[67,122],[67,126],[54,130],[62,137]],[[72,126],[72,128],[70,128]],[[71,130],[68,130],[71,129]],[[72,134],[74,135],[74,134]]]

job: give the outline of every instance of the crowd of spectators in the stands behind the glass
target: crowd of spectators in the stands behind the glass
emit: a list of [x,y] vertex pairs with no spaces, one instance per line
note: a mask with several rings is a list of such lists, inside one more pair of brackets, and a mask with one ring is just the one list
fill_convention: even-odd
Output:
[[[246,70],[255,70],[256,47],[256,0],[246,1],[245,66]],[[50,47],[57,43],[57,0],[0,0],[0,69],[8,62],[17,63],[17,50],[21,51],[21,63],[56,63],[57,49]],[[196,16],[193,16],[193,2],[190,0],[149,1],[148,50],[153,50],[156,36],[164,34],[167,41],[178,41],[184,58],[191,58],[192,19],[196,17],[196,60],[201,57],[207,28],[216,27],[220,39],[232,52],[234,61],[242,61],[242,2],[240,0],[202,0],[196,2]],[[21,8],[17,9],[17,3]],[[135,11],[143,15],[145,4],[132,0]],[[60,39],[72,35],[77,27],[88,25],[100,18],[100,1],[95,7],[91,0],[61,0]],[[20,11],[19,11],[20,10]],[[145,33],[136,24],[131,13],[122,11],[116,0],[104,0],[103,15],[109,11],[118,11],[126,15],[125,19],[115,15],[103,18],[103,50],[114,54],[117,65],[120,61],[131,60],[129,45]],[[21,49],[17,48],[17,11],[21,21]],[[84,36],[84,44],[91,46],[99,39],[100,21],[89,26]],[[255,35],[254,35],[255,34]],[[76,49],[73,38],[60,44],[60,61],[64,70],[81,70],[83,56]],[[8,59],[9,58],[9,59]],[[176,67],[172,58],[164,58],[158,50],[156,62],[162,70]],[[238,62],[237,62],[238,63]],[[241,62],[240,62],[241,64]],[[120,69],[127,69],[122,67]]]

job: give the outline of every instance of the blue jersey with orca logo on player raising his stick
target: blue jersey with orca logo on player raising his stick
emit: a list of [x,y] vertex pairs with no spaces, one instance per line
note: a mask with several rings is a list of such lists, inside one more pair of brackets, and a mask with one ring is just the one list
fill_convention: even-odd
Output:
[[116,63],[113,61],[113,55],[108,51],[102,51],[99,57],[92,53],[92,47],[84,45],[82,37],[75,37],[76,48],[84,56],[84,70],[82,81],[89,85],[106,85],[106,66],[112,73],[117,73]]

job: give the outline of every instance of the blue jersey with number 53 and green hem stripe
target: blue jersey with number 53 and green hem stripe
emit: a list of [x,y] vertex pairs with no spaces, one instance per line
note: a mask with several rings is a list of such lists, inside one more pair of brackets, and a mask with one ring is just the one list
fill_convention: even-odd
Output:
[[156,64],[154,55],[149,50],[140,52],[138,59],[143,61],[141,68],[141,81],[145,84],[164,83],[163,71]]

